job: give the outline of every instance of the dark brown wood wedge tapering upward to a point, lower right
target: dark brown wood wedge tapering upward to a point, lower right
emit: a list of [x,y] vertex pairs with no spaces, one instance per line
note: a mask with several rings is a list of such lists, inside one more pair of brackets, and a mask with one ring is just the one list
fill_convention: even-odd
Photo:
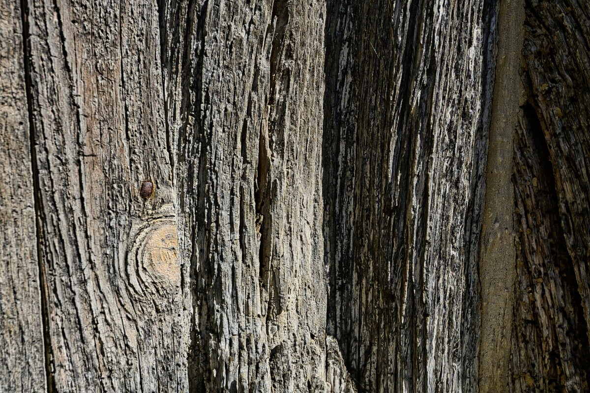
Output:
[[530,105],[514,156],[517,283],[511,391],[588,391],[588,338],[572,259],[560,226],[555,179]]

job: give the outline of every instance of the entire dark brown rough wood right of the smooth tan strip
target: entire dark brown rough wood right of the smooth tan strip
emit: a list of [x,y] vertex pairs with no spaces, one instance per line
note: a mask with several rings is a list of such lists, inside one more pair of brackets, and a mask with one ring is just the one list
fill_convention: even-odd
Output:
[[588,391],[590,4],[526,2],[514,392]]

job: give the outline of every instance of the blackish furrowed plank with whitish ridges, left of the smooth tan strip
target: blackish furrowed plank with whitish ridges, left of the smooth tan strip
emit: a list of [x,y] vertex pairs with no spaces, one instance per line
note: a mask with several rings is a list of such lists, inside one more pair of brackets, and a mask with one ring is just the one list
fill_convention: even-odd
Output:
[[327,331],[361,391],[476,389],[495,12],[329,2]]

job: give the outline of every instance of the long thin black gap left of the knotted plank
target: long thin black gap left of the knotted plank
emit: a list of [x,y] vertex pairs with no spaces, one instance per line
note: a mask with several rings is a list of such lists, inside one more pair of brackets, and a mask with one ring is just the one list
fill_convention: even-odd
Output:
[[51,346],[51,335],[49,329],[49,305],[47,299],[46,288],[46,273],[45,265],[43,263],[43,233],[41,230],[42,223],[45,220],[43,216],[42,200],[41,200],[41,186],[39,182],[39,169],[37,165],[37,150],[35,149],[35,125],[33,118],[33,94],[32,94],[32,80],[31,80],[31,47],[29,43],[30,27],[28,22],[28,1],[21,1],[21,22],[22,22],[22,52],[23,65],[25,72],[25,90],[27,94],[27,109],[30,132],[30,148],[31,148],[31,173],[33,180],[33,197],[35,202],[35,223],[37,232],[37,263],[39,269],[39,290],[41,296],[41,321],[43,326],[43,346],[45,355],[45,378],[47,381],[47,392],[57,392],[55,387],[55,378],[53,371],[55,366],[53,364],[53,351]]

